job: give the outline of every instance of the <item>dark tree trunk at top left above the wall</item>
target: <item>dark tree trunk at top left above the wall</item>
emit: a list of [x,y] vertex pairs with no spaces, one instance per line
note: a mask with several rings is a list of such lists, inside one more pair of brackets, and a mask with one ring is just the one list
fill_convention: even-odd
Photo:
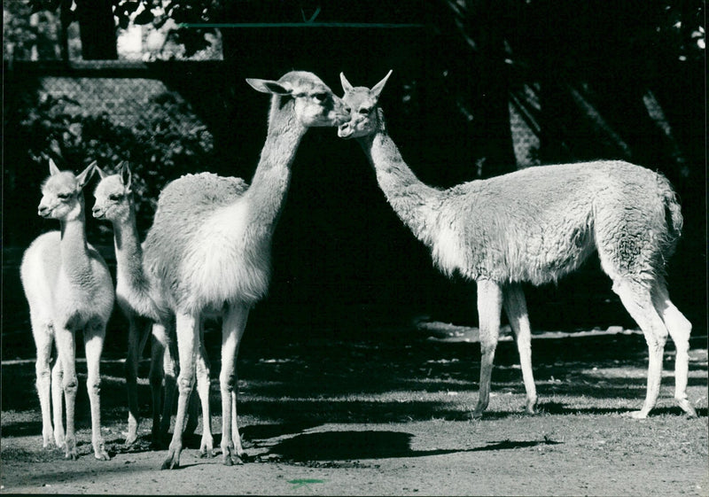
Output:
[[82,39],[84,60],[115,60],[116,26],[111,0],[82,0],[76,2],[76,18]]

